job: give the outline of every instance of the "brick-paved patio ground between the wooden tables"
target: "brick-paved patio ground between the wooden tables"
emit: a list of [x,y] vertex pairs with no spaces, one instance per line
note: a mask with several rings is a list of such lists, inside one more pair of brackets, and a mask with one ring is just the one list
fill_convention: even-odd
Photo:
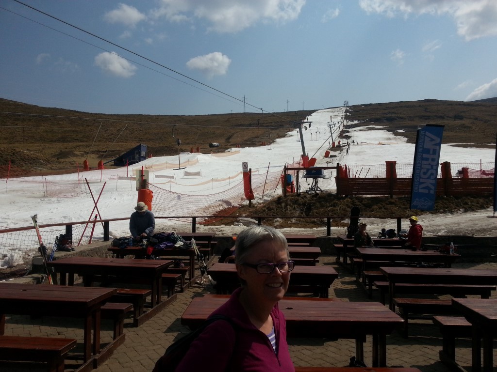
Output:
[[[216,258],[215,258],[216,259]],[[341,301],[377,301],[377,294],[368,300],[364,289],[355,280],[355,276],[347,269],[335,263],[335,257],[322,255],[320,265],[331,265],[339,273],[334,281],[330,297]],[[453,267],[465,268],[493,268],[496,263],[456,263]],[[150,372],[155,362],[163,355],[166,347],[181,334],[188,332],[188,328],[180,323],[180,317],[193,297],[215,293],[210,284],[205,287],[194,287],[185,293],[179,293],[177,300],[160,314],[136,328],[132,318],[126,319],[126,341],[114,354],[95,372]],[[493,294],[497,298],[497,294]],[[7,316],[7,335],[30,335],[48,337],[69,337],[82,339],[81,321],[71,318],[30,318],[28,316]],[[109,342],[112,337],[111,324],[102,320],[102,343]],[[387,337],[387,361],[389,366],[417,367],[423,372],[449,371],[439,362],[438,352],[441,350],[442,340],[430,319],[410,320],[410,337],[403,338],[394,332]],[[353,340],[314,338],[289,338],[290,353],[296,366],[333,366],[348,365],[349,358],[355,355]],[[469,340],[457,342],[456,358],[461,366],[471,370],[471,344]],[[79,345],[81,348],[81,345]],[[76,349],[78,351],[78,349]],[[80,350],[81,352],[81,350]],[[366,364],[371,363],[371,339],[368,337],[364,344],[364,359]],[[495,354],[495,352],[494,352]],[[497,356],[494,356],[497,360]],[[208,363],[208,361],[206,361]],[[77,368],[78,361],[69,360],[66,371]],[[40,366],[19,366],[15,363],[0,362],[0,371],[27,372],[45,371]]]

